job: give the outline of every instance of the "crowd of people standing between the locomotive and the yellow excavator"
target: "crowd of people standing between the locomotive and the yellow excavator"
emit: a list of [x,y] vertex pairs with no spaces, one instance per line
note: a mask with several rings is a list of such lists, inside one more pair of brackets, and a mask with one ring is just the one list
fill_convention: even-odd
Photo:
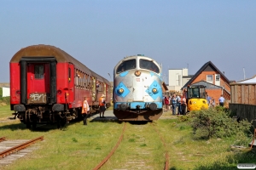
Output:
[[[172,115],[186,115],[187,112],[187,99],[186,93],[172,96],[165,96],[163,99],[164,111],[171,111]],[[177,114],[176,114],[177,110]]]

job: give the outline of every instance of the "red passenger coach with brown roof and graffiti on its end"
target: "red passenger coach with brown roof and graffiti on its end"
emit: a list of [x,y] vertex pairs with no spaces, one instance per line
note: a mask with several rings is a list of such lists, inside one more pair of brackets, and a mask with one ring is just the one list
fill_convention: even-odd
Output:
[[84,97],[90,111],[111,84],[60,48],[34,45],[21,48],[10,60],[10,107],[26,127],[37,123],[66,122],[78,118]]

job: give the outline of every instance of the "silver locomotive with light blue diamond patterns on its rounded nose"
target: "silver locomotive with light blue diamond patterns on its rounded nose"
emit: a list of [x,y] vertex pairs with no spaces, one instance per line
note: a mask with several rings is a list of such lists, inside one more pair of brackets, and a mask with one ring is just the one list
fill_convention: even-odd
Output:
[[163,113],[160,65],[149,57],[125,57],[113,70],[113,114],[121,121],[153,121]]

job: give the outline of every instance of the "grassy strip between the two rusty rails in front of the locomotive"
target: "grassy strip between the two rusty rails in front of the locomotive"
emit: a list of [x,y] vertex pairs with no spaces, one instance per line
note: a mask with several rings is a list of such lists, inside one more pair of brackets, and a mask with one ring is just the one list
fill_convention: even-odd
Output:
[[[138,167],[168,169],[169,158],[167,152],[166,157],[163,156],[164,150],[166,150],[164,145],[166,144],[162,144],[159,132],[153,126],[154,123],[130,122],[125,124],[127,124],[127,127],[125,128],[124,125],[118,143],[94,169],[96,170],[100,167],[104,169],[133,169]],[[122,139],[122,142],[120,142],[120,139]]]

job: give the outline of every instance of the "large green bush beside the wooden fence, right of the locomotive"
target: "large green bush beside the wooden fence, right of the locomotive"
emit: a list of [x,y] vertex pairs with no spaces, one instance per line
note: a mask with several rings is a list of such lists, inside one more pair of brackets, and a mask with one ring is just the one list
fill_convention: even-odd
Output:
[[190,125],[195,139],[224,138],[237,133],[250,133],[250,122],[236,122],[230,117],[230,111],[220,107],[189,113]]

